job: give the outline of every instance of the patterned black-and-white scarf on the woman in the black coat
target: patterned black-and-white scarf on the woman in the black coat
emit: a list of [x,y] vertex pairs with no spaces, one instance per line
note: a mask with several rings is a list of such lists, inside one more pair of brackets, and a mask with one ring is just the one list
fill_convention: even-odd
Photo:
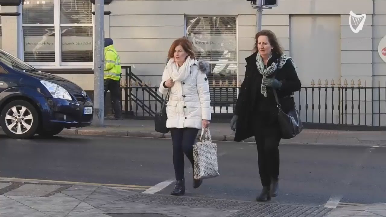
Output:
[[[268,60],[271,59],[271,57],[272,57],[272,54],[269,56]],[[288,59],[291,59],[291,62],[296,70],[296,66],[295,66],[295,63],[293,62],[293,59],[287,56],[286,54],[281,55],[280,58],[278,58],[270,66],[268,66],[267,69],[264,69],[264,61],[260,53],[257,53],[257,56],[256,56],[257,69],[259,70],[260,74],[263,76],[263,79],[264,79],[267,76],[272,75],[276,71],[276,69],[281,69]],[[262,95],[264,95],[264,97],[267,97],[267,87],[262,82],[261,82],[260,92]]]

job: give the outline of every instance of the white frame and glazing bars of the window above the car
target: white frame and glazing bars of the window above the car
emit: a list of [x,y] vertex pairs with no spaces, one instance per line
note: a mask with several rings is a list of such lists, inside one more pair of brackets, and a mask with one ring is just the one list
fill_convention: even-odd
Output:
[[[91,14],[91,24],[61,24],[60,22],[60,1],[61,0],[53,0],[54,1],[54,24],[23,24],[23,2],[19,5],[20,11],[20,32],[21,37],[19,37],[20,43],[20,59],[24,61],[24,27],[34,27],[34,26],[53,26],[55,32],[55,62],[26,62],[31,66],[39,69],[51,69],[51,68],[93,68],[94,66],[94,54],[95,54],[95,31],[94,31],[94,19],[95,15]],[[90,2],[91,3],[91,2]],[[95,5],[91,3],[91,12],[94,11]],[[61,27],[73,27],[73,26],[92,26],[92,44],[93,44],[93,61],[92,62],[62,62],[62,34]],[[57,32],[59,34],[57,34]]]

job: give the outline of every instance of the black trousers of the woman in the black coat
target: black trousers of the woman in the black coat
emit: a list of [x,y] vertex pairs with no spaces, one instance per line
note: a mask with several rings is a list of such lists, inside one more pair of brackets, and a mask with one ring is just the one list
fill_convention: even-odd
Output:
[[274,111],[259,111],[254,119],[257,161],[262,186],[270,186],[271,179],[279,179],[281,135],[277,115]]

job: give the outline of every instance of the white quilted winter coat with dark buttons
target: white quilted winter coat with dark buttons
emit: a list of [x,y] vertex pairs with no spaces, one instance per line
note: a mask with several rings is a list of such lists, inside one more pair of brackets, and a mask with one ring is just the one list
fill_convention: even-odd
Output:
[[[202,129],[201,121],[211,119],[207,71],[200,71],[198,64],[199,61],[195,61],[195,64],[190,68],[190,75],[181,82],[174,82],[171,87],[169,102],[166,104],[166,114],[168,115],[166,127],[168,128]],[[163,84],[169,78],[168,68],[165,66],[159,87],[159,92],[164,97],[169,88],[165,88]]]

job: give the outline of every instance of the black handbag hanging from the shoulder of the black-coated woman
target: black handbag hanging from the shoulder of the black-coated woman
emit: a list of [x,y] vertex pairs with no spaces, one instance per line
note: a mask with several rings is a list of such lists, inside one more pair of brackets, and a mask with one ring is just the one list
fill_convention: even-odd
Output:
[[284,112],[281,108],[281,104],[279,103],[278,94],[276,93],[275,89],[273,89],[273,94],[275,96],[276,105],[278,107],[278,120],[281,130],[281,138],[291,139],[300,134],[300,132],[303,130],[303,124],[300,120],[299,111],[296,109],[295,101],[293,98],[288,96],[285,98],[288,99],[288,103],[291,103],[291,105],[289,105],[288,112]]

